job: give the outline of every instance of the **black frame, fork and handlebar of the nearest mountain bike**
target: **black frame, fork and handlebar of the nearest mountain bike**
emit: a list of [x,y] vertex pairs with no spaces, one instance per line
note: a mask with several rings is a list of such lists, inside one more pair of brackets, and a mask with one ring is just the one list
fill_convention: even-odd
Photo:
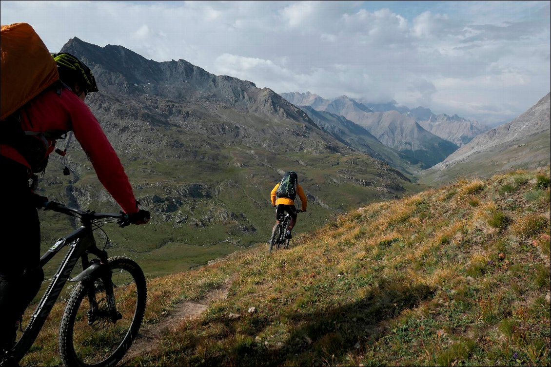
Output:
[[[62,213],[67,214],[66,212]],[[120,214],[81,211],[78,211],[78,213],[84,215],[92,214],[94,219],[120,217]],[[71,282],[86,280],[91,278],[93,274],[95,275],[96,272],[101,272],[100,277],[104,280],[110,315],[111,317],[116,318],[114,315],[117,311],[111,283],[111,271],[109,264],[107,263],[107,252],[96,247],[96,241],[93,235],[93,223],[91,223],[91,220],[85,218],[81,218],[81,220],[83,222],[83,226],[77,230],[74,230],[68,236],[58,239],[56,243],[50,247],[50,250],[46,251],[40,258],[40,267],[44,268],[46,263],[48,263],[48,261],[50,261],[52,257],[54,257],[61,249],[63,249],[63,247],[66,247],[67,245],[71,246],[67,251],[60,267],[57,269],[52,282],[42,296],[40,303],[36,307],[33,315],[31,315],[29,324],[23,331],[21,338],[12,350],[10,350],[9,358],[13,358],[17,362],[24,357],[35,342],[36,337],[40,333],[42,326],[44,326],[53,305],[56,303],[58,296],[61,294],[67,279],[71,276],[71,272],[73,271],[73,268],[79,258],[82,260],[82,268],[84,270],[77,277],[71,279]],[[88,261],[88,253],[98,256],[99,260],[94,259],[91,262]],[[94,307],[95,298],[89,296],[89,300],[91,307]]]

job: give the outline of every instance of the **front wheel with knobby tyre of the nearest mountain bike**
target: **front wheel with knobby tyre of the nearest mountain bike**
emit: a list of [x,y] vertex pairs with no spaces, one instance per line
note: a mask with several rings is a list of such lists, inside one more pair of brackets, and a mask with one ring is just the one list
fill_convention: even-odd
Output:
[[[118,320],[112,321],[109,316],[102,280],[95,276],[80,282],[61,319],[60,354],[66,366],[115,365],[138,334],[147,298],[143,271],[126,257],[112,257],[109,265]],[[94,307],[89,294],[95,299]]]

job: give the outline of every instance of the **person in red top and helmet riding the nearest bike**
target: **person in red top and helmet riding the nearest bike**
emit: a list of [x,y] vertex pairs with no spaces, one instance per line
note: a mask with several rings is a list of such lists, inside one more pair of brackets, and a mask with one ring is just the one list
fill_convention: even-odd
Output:
[[[0,332],[2,349],[13,346],[16,323],[33,300],[44,279],[40,262],[40,223],[37,209],[48,202],[36,195],[30,181],[43,171],[55,149],[56,133],[73,131],[88,155],[101,184],[120,204],[129,222],[145,224],[149,212],[139,209],[125,170],[84,98],[98,91],[94,75],[69,53],[52,55],[61,82],[21,108],[19,118],[25,143],[2,139],[2,257]],[[4,121],[3,121],[4,122]],[[15,138],[14,138],[15,141]],[[18,230],[22,228],[22,230]],[[14,230],[15,229],[15,230]]]

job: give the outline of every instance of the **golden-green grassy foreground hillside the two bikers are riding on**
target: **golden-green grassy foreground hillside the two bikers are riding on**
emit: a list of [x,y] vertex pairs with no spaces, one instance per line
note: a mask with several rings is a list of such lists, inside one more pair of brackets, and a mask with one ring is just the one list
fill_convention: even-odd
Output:
[[[462,180],[150,279],[143,327],[234,280],[132,365],[549,365],[549,201],[549,168]],[[61,307],[23,364],[59,362]]]

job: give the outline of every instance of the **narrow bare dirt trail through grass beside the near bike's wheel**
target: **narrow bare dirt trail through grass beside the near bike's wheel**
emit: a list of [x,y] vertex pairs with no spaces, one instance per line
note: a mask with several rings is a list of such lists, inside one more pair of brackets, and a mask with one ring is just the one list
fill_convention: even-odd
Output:
[[128,350],[125,357],[118,363],[124,366],[128,361],[136,358],[138,355],[152,352],[158,347],[160,339],[167,332],[172,332],[182,321],[192,320],[201,315],[214,301],[225,299],[234,277],[228,278],[220,287],[210,290],[202,299],[197,301],[181,301],[175,310],[166,314],[158,325],[149,328],[141,328],[138,337]]

